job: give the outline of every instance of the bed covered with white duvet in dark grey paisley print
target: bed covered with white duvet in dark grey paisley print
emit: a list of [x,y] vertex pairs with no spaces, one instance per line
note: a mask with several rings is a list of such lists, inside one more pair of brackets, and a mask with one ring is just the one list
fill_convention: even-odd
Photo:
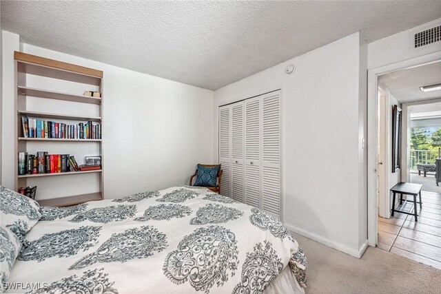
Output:
[[7,293],[24,286],[29,293],[304,293],[307,261],[283,224],[205,188],[39,209],[21,235]]

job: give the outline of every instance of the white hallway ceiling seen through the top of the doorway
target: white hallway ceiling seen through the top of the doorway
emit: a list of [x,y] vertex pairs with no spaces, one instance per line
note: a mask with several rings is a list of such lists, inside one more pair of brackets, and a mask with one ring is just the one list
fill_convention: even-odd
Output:
[[422,86],[441,83],[441,61],[389,72],[380,76],[379,81],[386,85],[399,103],[441,98],[441,90],[431,92],[420,90]]

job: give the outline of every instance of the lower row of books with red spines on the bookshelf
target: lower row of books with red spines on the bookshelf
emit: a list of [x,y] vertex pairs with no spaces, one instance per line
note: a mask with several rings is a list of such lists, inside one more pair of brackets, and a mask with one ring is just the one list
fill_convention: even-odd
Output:
[[48,154],[48,152],[45,151],[39,151],[37,154],[19,152],[19,176],[25,174],[53,174],[99,169],[101,169],[101,164],[78,165],[75,157],[69,154]]

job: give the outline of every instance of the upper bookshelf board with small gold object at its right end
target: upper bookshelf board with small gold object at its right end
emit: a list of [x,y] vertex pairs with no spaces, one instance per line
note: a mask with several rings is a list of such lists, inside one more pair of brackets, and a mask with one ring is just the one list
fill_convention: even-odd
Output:
[[26,96],[40,97],[40,98],[48,98],[48,99],[57,99],[63,101],[72,101],[72,102],[80,102],[80,103],[90,103],[90,104],[100,104],[101,98],[99,97],[91,97],[70,93],[57,92],[52,90],[43,90],[32,87],[18,86],[21,94]]

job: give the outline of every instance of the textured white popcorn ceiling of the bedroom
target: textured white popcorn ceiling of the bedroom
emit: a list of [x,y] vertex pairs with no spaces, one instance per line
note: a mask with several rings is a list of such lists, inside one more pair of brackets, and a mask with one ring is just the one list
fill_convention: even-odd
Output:
[[2,1],[21,41],[210,90],[354,32],[375,41],[441,1]]

